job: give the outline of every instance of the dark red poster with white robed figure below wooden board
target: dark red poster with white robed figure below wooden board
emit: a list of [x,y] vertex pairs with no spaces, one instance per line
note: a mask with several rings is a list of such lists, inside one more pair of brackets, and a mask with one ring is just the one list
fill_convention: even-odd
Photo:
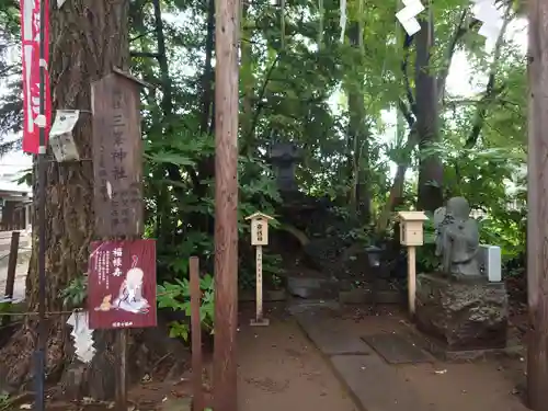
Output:
[[156,242],[95,241],[88,270],[91,329],[156,327]]

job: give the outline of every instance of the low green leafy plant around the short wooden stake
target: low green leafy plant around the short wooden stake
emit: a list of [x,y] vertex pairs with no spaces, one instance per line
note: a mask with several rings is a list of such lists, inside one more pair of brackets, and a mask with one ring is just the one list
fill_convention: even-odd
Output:
[[[187,263],[187,261],[186,261]],[[202,301],[199,307],[199,321],[202,328],[210,333],[214,332],[214,282],[209,274],[206,274],[199,283],[202,290]],[[173,311],[181,311],[190,319],[191,318],[191,289],[190,282],[186,278],[175,278],[173,283],[164,282],[163,285],[158,285],[158,307],[171,308]],[[170,336],[180,338],[184,341],[189,340],[190,327],[187,321],[170,322]]]

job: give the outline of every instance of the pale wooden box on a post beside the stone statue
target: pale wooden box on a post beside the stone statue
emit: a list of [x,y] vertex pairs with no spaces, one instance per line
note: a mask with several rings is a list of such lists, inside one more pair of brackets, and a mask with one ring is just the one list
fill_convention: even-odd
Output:
[[414,316],[416,295],[416,246],[423,244],[423,224],[429,219],[423,212],[400,212],[400,243],[408,248],[409,313]]

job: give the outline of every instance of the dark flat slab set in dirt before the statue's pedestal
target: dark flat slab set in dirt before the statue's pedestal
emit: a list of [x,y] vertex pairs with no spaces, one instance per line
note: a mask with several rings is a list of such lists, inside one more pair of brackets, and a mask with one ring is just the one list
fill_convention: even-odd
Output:
[[381,333],[363,338],[390,364],[431,363],[432,357],[409,339],[396,333]]

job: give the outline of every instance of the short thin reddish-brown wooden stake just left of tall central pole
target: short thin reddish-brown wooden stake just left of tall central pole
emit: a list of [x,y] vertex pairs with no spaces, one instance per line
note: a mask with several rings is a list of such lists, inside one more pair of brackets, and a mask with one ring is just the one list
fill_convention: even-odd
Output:
[[191,333],[192,333],[192,409],[204,409],[204,391],[202,385],[202,321],[199,307],[202,305],[202,289],[199,288],[199,260],[191,256]]

